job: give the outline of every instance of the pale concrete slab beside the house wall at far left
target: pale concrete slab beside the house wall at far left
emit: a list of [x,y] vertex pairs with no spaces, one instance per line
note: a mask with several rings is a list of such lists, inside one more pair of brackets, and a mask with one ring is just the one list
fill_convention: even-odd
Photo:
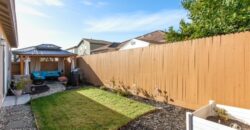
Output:
[[23,105],[28,103],[31,100],[29,94],[25,94],[22,96],[7,96],[4,99],[3,106],[14,106],[14,105]]

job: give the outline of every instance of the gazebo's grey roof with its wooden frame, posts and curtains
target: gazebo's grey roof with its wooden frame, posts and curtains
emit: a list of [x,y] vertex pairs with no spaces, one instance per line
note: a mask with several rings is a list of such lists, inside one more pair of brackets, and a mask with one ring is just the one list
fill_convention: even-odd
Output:
[[[19,55],[20,59],[20,72],[21,74],[28,75],[29,71],[38,71],[41,69],[41,58],[58,58],[58,69],[64,70],[64,59],[71,59],[71,68],[75,68],[74,53],[62,50],[61,47],[53,44],[40,44],[12,51],[14,59]],[[31,63],[29,65],[29,63]],[[30,69],[31,68],[31,69]]]

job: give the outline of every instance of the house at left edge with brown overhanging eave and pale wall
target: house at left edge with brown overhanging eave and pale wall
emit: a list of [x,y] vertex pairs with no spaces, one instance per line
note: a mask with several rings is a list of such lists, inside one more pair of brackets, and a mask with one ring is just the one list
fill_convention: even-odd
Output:
[[0,0],[0,107],[11,80],[11,48],[18,46],[14,0]]

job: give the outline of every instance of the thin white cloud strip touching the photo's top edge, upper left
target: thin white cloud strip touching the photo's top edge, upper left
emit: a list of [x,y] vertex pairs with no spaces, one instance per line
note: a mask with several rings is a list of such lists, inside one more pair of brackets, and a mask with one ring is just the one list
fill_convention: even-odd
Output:
[[30,4],[30,5],[47,5],[47,6],[63,6],[64,3],[62,0],[18,0],[22,3]]

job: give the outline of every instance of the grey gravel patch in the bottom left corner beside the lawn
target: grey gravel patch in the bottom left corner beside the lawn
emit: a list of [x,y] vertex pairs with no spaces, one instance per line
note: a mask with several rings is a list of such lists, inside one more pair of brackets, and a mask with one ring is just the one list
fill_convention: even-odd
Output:
[[30,105],[2,107],[0,109],[1,130],[36,130]]

